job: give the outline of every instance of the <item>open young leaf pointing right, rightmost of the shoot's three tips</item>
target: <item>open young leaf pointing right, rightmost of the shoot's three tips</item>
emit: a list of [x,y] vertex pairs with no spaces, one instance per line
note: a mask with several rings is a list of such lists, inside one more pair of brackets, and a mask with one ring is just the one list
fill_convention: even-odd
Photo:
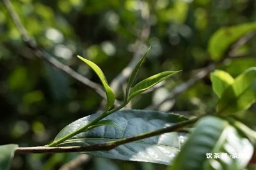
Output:
[[138,84],[134,85],[132,87],[132,90],[129,94],[129,99],[130,101],[132,97],[144,92],[145,90],[150,89],[157,83],[160,83],[163,80],[166,80],[173,74],[179,73],[180,71],[164,71],[162,73],[155,74],[154,76],[150,76],[149,78],[146,78],[145,80],[140,81]]

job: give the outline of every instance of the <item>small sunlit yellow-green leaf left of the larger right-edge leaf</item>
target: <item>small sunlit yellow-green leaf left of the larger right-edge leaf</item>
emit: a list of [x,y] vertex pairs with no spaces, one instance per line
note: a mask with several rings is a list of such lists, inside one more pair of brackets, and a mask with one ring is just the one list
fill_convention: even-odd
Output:
[[220,98],[222,93],[234,82],[234,78],[225,71],[216,70],[211,73],[212,89]]

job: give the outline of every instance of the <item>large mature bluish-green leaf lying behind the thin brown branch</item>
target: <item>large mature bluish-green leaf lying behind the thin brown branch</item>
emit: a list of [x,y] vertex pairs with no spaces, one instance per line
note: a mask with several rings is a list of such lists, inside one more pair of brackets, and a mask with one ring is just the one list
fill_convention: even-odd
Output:
[[[76,131],[79,127],[92,122],[100,113],[80,118],[72,124],[67,125],[56,136],[55,140]],[[104,126],[97,127],[91,131],[86,131],[68,139],[61,146],[72,145],[95,145],[114,141],[115,139],[128,138],[134,135],[154,131],[173,125],[177,122],[187,120],[186,117],[171,113],[162,113],[159,111],[147,110],[122,110],[116,111],[107,117],[116,122],[116,124],[124,129],[120,131],[115,127]],[[159,164],[170,164],[173,157],[179,152],[180,145],[184,141],[185,136],[180,132],[170,132],[152,138],[141,139],[125,145],[120,145],[110,151],[85,152],[86,154],[95,155],[97,157],[106,157],[111,159],[135,160],[143,162],[154,162]]]

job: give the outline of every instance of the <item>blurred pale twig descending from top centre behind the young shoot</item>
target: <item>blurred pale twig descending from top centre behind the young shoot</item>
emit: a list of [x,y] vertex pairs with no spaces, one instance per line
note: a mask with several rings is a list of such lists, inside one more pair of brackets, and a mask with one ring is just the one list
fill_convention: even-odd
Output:
[[136,39],[134,45],[133,45],[133,57],[129,64],[121,71],[120,74],[118,74],[111,82],[110,86],[111,89],[113,89],[114,92],[117,92],[118,89],[120,89],[121,85],[124,83],[127,78],[132,73],[132,69],[136,66],[138,61],[141,57],[141,47],[144,46],[145,41],[147,41],[148,36],[150,35],[150,11],[147,8],[147,6],[143,6],[143,4],[140,3],[141,8],[141,18],[143,22],[143,27],[140,32],[140,36]]

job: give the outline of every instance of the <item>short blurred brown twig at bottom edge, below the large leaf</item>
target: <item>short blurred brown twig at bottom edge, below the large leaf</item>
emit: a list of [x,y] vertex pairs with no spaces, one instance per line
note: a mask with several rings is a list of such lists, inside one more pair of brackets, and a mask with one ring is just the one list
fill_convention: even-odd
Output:
[[79,167],[86,166],[86,164],[88,164],[90,160],[92,160],[92,157],[90,155],[80,154],[75,159],[72,159],[63,166],[61,166],[59,170],[79,169]]

